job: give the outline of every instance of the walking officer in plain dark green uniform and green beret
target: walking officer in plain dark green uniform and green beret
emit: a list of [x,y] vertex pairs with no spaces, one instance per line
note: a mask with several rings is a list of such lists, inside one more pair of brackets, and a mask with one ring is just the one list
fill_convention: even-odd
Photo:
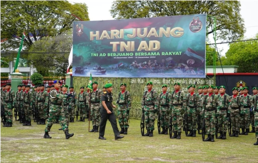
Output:
[[120,136],[119,130],[117,128],[117,120],[113,110],[113,108],[115,108],[116,106],[112,104],[113,102],[113,97],[111,93],[113,90],[112,86],[113,85],[111,83],[106,84],[105,85],[106,91],[102,93],[100,98],[102,106],[100,109],[99,139],[102,139],[102,140],[106,140],[106,138],[104,138],[104,134],[105,134],[107,120],[109,120],[109,122],[111,123],[113,132],[115,134],[115,140],[121,139],[124,137],[124,136]]

